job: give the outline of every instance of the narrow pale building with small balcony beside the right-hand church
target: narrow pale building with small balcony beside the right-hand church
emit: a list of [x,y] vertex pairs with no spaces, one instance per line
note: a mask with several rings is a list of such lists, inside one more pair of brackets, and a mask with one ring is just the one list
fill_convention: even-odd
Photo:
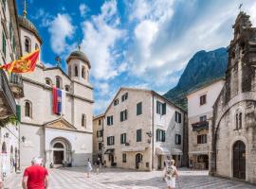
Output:
[[212,105],[225,80],[217,79],[187,95],[189,119],[189,164],[196,169],[209,169]]

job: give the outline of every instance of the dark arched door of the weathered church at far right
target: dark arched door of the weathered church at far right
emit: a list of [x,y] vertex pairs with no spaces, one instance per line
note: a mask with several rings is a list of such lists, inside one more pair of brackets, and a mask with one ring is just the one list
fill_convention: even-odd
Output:
[[233,177],[246,180],[246,145],[242,141],[233,146]]

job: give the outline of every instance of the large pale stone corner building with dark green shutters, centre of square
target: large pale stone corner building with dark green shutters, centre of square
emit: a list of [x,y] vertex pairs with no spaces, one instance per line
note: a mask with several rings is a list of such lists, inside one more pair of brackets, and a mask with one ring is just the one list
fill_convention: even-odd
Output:
[[177,166],[185,163],[182,156],[185,113],[154,91],[120,88],[104,113],[106,166],[162,169],[167,156]]

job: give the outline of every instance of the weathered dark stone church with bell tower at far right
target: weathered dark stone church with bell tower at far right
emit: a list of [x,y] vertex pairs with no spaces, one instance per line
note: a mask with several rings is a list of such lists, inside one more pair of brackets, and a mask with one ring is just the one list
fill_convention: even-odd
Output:
[[240,12],[226,82],[213,107],[210,174],[256,183],[256,28]]

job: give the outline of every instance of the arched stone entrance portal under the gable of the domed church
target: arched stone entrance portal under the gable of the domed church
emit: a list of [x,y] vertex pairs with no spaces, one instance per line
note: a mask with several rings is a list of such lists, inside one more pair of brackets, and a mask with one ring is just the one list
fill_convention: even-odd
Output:
[[55,138],[51,141],[51,163],[54,166],[67,166],[72,162],[72,148],[65,138]]

